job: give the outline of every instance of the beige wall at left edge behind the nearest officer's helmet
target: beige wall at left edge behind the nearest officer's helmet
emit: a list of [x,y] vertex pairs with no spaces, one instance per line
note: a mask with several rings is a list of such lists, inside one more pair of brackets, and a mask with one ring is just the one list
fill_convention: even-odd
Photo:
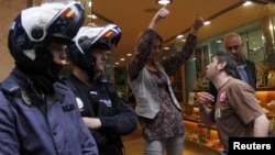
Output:
[[28,0],[1,0],[0,1],[0,81],[3,80],[14,66],[14,60],[8,49],[8,32],[11,22],[26,8]]

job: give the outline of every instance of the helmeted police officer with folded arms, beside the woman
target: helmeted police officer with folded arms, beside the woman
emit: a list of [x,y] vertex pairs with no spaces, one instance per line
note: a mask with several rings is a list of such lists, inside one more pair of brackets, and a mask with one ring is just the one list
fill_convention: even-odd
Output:
[[67,48],[73,74],[65,82],[74,90],[86,125],[96,139],[100,155],[122,155],[120,136],[138,126],[134,110],[120,98],[114,86],[103,76],[106,52],[121,37],[114,24],[84,26]]

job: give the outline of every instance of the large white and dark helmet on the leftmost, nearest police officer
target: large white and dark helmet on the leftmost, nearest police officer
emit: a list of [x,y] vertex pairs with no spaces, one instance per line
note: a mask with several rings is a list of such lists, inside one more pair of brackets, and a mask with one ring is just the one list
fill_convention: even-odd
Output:
[[47,69],[53,59],[48,41],[62,44],[72,40],[84,23],[84,8],[75,2],[51,2],[23,10],[9,31],[9,49],[16,66],[28,71]]

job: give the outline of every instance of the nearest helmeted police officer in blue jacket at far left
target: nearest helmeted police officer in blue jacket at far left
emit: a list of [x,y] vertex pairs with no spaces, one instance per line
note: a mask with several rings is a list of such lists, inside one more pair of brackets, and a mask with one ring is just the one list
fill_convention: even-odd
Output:
[[58,81],[65,45],[84,22],[76,2],[23,10],[9,31],[15,67],[1,84],[0,154],[98,155],[74,93]]

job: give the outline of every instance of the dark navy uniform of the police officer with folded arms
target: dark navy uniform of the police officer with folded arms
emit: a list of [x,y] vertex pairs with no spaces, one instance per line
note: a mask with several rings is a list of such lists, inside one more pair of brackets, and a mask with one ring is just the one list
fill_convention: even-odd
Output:
[[129,134],[138,126],[138,115],[112,84],[98,78],[91,87],[81,82],[74,74],[64,78],[77,97],[82,117],[99,118],[101,128],[90,130],[96,139],[100,155],[121,155],[121,135]]

